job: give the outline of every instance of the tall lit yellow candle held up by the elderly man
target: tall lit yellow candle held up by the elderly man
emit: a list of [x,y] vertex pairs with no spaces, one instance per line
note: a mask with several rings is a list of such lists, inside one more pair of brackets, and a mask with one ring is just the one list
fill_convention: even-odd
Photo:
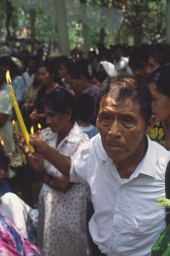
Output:
[[27,129],[26,129],[25,124],[24,124],[24,120],[23,120],[22,115],[20,113],[18,102],[17,102],[17,99],[15,98],[15,93],[13,92],[13,87],[11,85],[11,79],[10,79],[10,72],[9,72],[9,70],[6,72],[6,80],[7,80],[7,83],[9,84],[9,87],[10,87],[10,94],[11,94],[12,104],[13,104],[13,106],[15,108],[15,113],[17,115],[18,122],[20,124],[20,129],[22,130],[22,134],[24,136],[24,139],[25,139],[25,142],[26,142],[27,146],[29,147],[29,150],[33,153],[34,152],[34,148],[29,143],[29,140],[30,140],[29,134],[27,132]]

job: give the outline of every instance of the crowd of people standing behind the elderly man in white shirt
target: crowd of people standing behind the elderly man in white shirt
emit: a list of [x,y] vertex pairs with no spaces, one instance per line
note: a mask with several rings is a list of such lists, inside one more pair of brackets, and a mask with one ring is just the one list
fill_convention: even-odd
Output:
[[[110,49],[99,44],[97,50],[93,49],[87,55],[74,49],[71,56],[55,58],[46,56],[43,48],[34,55],[18,52],[17,58],[1,51],[0,166],[5,166],[1,167],[5,170],[0,180],[0,213],[7,216],[24,237],[43,248],[46,255],[95,255],[95,245],[87,225],[94,211],[90,191],[84,185],[70,184],[43,159],[35,163],[27,157],[25,159],[17,148],[12,124],[15,113],[5,79],[6,71],[10,70],[11,83],[27,130],[39,134],[62,154],[73,156],[82,141],[89,141],[98,133],[97,98],[104,79],[119,75],[136,76],[148,84],[157,121],[150,138],[169,150],[169,63],[170,45],[167,44],[141,47],[118,44]],[[9,162],[3,160],[3,155],[9,157]],[[50,176],[59,177],[59,182],[53,184]],[[8,196],[5,197],[6,193]],[[13,193],[26,204],[18,197],[13,199]],[[10,204],[11,209],[3,208],[3,202]],[[13,202],[18,202],[17,212],[13,209]],[[30,208],[37,208],[37,205],[39,218],[38,212]],[[24,217],[20,217],[19,211],[24,212]],[[35,227],[33,222],[36,222]],[[28,223],[29,228],[25,227]]]

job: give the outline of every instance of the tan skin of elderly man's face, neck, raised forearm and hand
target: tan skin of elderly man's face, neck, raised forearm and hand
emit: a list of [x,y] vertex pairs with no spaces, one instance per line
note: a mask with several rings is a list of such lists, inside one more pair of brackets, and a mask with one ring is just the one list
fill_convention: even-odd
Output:
[[[101,133],[103,147],[113,161],[122,178],[129,178],[146,154],[146,134],[155,123],[152,116],[148,125],[141,115],[139,104],[131,99],[117,102],[113,97],[104,96],[101,100],[97,128]],[[55,148],[48,146],[36,135],[31,135],[34,154],[24,144],[23,150],[30,157],[43,157],[63,175],[69,177],[71,158],[63,156]]]

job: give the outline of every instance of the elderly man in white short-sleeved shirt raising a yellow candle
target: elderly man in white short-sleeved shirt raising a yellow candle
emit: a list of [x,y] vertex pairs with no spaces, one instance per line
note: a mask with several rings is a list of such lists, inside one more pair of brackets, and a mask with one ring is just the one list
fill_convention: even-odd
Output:
[[99,134],[74,157],[59,154],[38,136],[31,138],[36,157],[72,182],[89,184],[90,234],[107,256],[149,256],[166,227],[164,208],[153,202],[165,196],[169,152],[146,136],[154,123],[151,102],[148,88],[134,77],[108,78],[99,95]]

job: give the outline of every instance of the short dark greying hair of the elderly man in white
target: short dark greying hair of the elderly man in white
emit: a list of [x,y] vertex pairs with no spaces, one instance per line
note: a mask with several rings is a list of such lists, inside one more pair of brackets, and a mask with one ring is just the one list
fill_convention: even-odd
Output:
[[140,106],[141,115],[148,124],[152,116],[152,96],[148,86],[143,81],[133,76],[108,77],[101,86],[97,102],[98,109],[101,99],[105,95],[111,95],[120,102],[127,98],[136,100]]

